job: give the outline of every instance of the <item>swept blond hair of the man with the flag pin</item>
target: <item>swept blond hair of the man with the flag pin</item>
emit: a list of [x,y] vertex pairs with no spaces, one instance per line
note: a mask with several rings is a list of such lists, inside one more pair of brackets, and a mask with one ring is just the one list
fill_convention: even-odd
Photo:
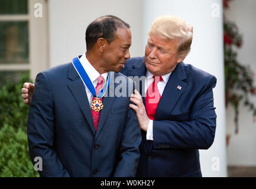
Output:
[[148,35],[157,35],[165,40],[178,40],[179,56],[187,56],[193,39],[193,26],[179,17],[172,15],[155,19]]

